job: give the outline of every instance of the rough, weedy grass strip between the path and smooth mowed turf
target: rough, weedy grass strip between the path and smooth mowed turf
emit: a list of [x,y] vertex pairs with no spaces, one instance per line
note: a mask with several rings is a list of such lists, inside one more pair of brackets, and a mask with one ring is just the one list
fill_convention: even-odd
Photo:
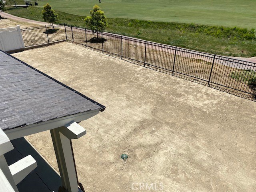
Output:
[[[6,7],[15,16],[43,21],[42,8]],[[85,16],[72,15],[60,11],[57,23],[87,28]],[[174,22],[151,22],[136,19],[109,18],[107,32],[136,37],[148,41],[179,46],[192,50],[224,56],[256,56],[254,30],[238,27],[218,27]]]

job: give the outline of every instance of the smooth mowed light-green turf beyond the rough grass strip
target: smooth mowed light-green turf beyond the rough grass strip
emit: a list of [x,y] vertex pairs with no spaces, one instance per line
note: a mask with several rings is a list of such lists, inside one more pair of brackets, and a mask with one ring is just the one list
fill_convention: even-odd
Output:
[[255,28],[255,0],[43,0],[54,9],[81,16],[98,4],[107,17]]

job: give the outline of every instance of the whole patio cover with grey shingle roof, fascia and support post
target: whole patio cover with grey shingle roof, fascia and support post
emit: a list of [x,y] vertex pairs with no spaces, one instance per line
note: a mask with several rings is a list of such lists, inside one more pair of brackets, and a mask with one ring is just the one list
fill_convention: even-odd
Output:
[[77,191],[77,184],[72,187],[69,183],[76,178],[70,181],[66,169],[74,166],[73,157],[70,158],[72,146],[67,140],[86,134],[76,122],[104,109],[103,105],[0,50],[0,128],[10,140],[51,130],[62,184],[68,192]]

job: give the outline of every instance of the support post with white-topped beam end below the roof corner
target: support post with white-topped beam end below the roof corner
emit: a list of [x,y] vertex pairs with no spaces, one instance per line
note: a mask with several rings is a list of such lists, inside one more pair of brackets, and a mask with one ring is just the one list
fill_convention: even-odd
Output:
[[52,142],[60,170],[63,187],[68,192],[78,192],[76,169],[70,139],[80,138],[86,134],[86,130],[76,122],[70,122],[66,126],[50,130]]

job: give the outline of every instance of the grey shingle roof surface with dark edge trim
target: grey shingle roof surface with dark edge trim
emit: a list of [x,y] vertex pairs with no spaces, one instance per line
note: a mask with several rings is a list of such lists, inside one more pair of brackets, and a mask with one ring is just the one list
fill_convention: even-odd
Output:
[[0,128],[17,128],[104,106],[0,51]]

